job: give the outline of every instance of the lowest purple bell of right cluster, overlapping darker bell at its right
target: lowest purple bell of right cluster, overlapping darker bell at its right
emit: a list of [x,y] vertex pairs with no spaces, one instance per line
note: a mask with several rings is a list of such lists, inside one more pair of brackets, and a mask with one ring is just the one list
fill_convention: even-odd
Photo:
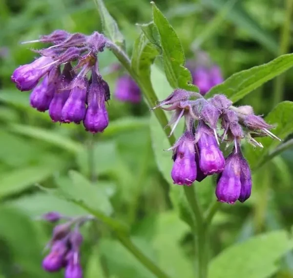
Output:
[[241,157],[239,153],[230,154],[226,159],[223,172],[220,174],[216,187],[218,201],[234,204],[241,192]]

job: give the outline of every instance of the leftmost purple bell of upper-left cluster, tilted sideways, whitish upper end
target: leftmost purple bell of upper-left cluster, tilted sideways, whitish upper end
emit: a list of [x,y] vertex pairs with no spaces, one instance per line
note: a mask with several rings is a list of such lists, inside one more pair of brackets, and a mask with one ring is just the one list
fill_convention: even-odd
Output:
[[49,70],[53,60],[50,57],[40,57],[31,64],[23,65],[14,70],[11,81],[16,84],[16,87],[21,91],[29,91],[36,87],[39,80]]

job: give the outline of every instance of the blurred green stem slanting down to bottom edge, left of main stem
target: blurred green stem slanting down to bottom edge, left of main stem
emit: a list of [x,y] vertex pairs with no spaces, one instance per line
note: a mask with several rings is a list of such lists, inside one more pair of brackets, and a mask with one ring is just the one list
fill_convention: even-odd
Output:
[[144,255],[131,241],[131,239],[124,235],[118,234],[118,239],[143,265],[146,266],[157,278],[169,278],[159,267],[156,266],[146,255]]

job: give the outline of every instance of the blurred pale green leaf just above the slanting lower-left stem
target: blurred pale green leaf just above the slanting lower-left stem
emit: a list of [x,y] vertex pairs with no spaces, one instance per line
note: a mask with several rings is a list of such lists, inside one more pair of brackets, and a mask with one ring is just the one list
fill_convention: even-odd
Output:
[[92,185],[80,173],[69,171],[69,179],[58,178],[57,183],[69,200],[83,203],[86,207],[105,215],[110,215],[113,212],[112,205],[105,191],[99,188],[99,185]]

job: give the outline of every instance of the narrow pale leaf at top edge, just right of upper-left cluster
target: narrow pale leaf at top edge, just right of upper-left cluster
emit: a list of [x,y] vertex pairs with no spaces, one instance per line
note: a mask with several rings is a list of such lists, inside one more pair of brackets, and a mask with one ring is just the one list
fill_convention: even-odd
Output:
[[124,37],[119,31],[116,21],[112,18],[107,8],[105,7],[103,0],[95,0],[95,3],[98,6],[105,34],[111,39],[114,44],[125,48]]

